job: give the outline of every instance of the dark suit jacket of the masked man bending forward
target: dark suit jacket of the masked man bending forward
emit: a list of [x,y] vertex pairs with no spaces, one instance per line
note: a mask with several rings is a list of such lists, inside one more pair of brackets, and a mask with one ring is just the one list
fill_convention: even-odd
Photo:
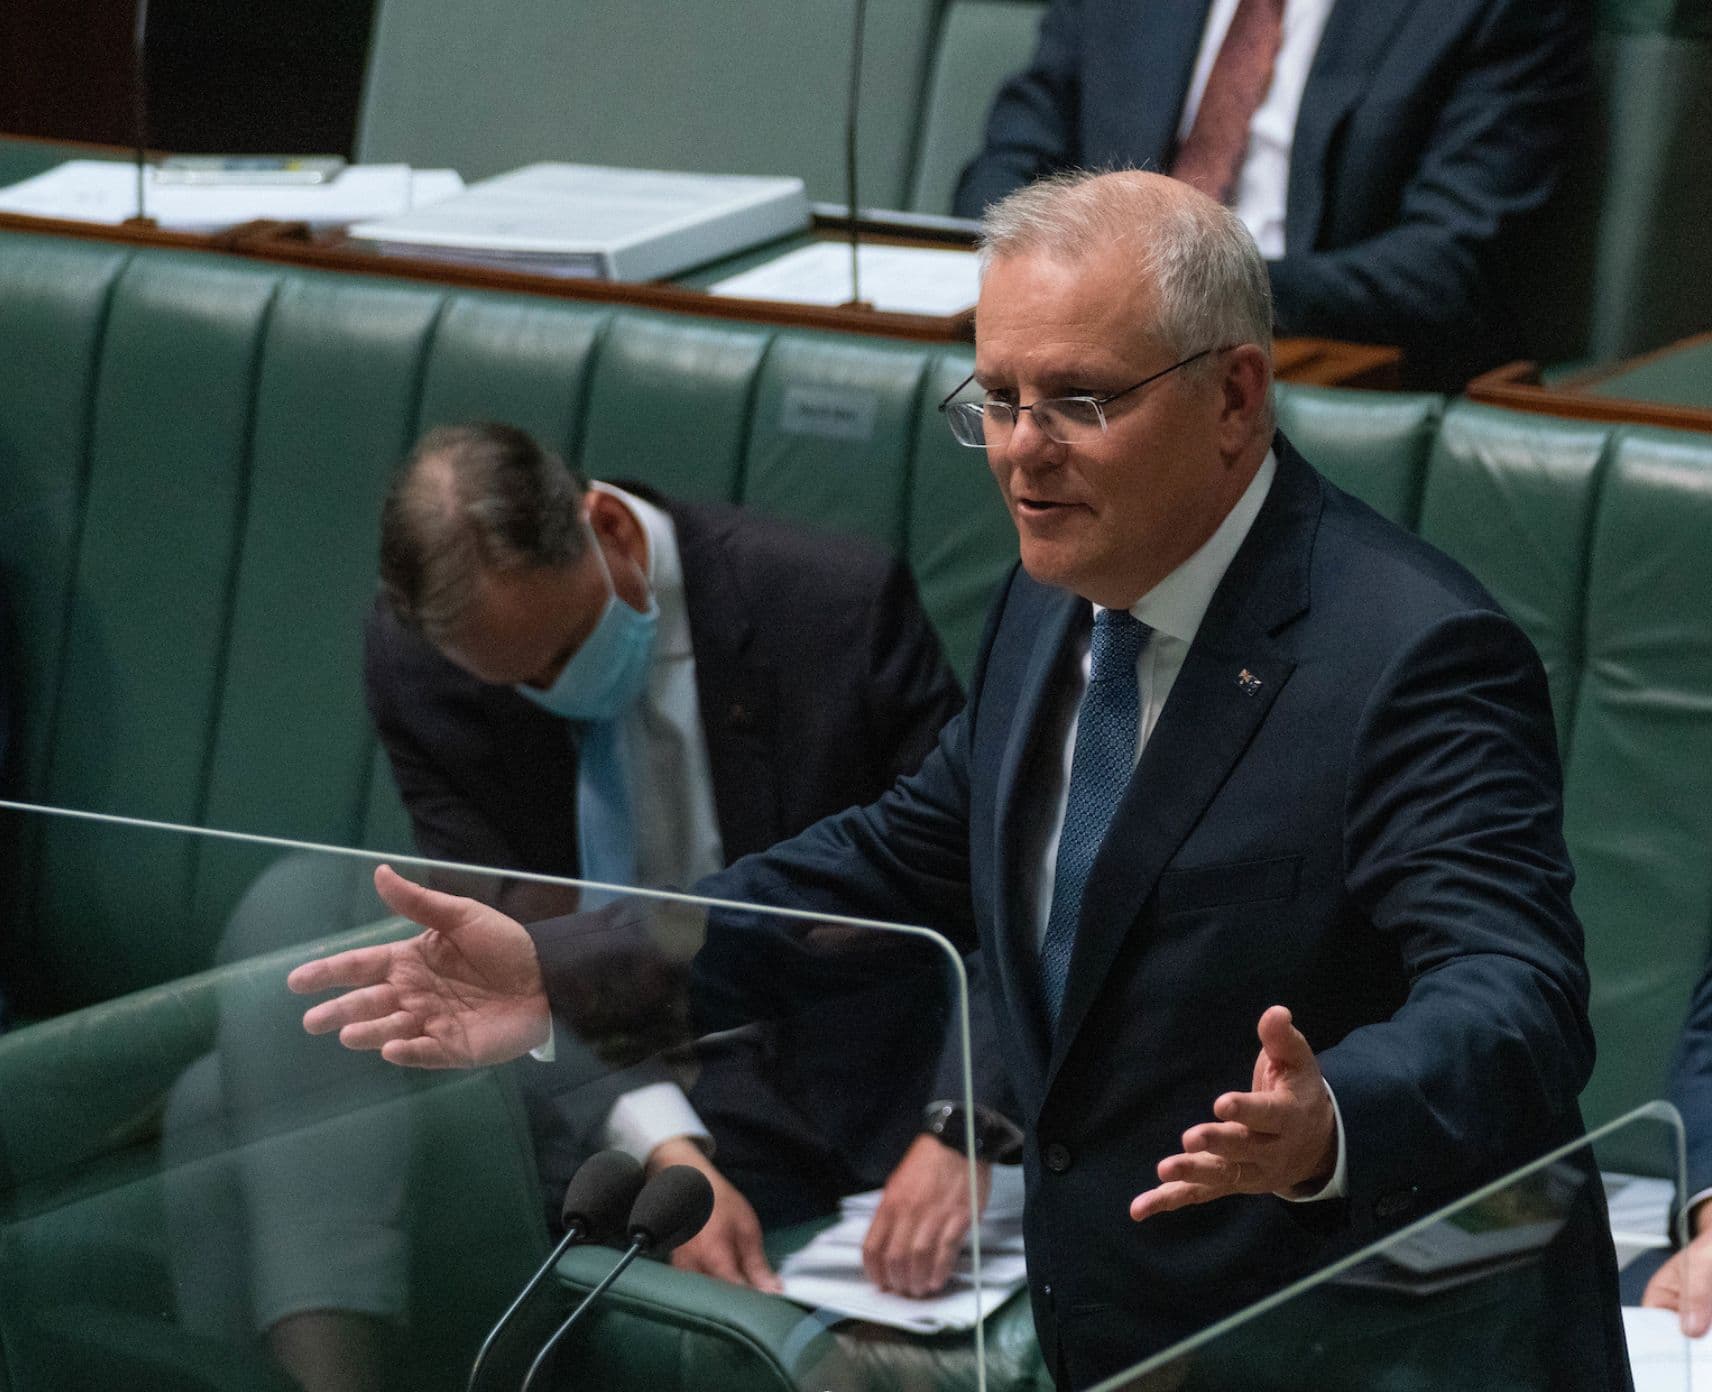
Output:
[[[722,503],[627,491],[675,531],[724,863],[873,800],[921,762],[962,693],[902,563]],[[425,856],[579,873],[575,723],[461,669],[383,599],[368,616],[365,685]],[[668,825],[671,813],[681,808],[639,810]],[[496,887],[526,918],[565,907],[539,885]],[[705,1123],[719,1173],[765,1226],[882,1185],[926,1104],[962,1096],[955,1051],[936,1051],[947,1039],[936,990],[921,979],[698,1050],[692,1121]],[[984,1060],[996,1070],[995,1051]],[[527,1086],[543,1072],[529,1065],[522,1079],[556,1212],[580,1159],[620,1142],[603,1127],[601,1087],[579,1084],[565,1103]],[[615,1075],[606,1101],[664,1080],[651,1068]],[[996,1079],[983,1096],[1003,1106]]]

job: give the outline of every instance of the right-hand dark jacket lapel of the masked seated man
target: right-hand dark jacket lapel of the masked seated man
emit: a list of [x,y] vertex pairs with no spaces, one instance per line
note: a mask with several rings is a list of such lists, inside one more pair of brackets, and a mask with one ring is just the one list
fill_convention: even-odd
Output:
[[676,500],[671,514],[683,562],[683,604],[695,654],[697,707],[726,863],[781,839],[774,782],[774,673],[753,654],[750,606],[726,553],[729,519]]

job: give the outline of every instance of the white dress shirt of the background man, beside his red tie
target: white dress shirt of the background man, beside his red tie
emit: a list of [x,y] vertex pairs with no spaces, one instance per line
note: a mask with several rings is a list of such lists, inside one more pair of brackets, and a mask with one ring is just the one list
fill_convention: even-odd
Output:
[[[1178,122],[1178,144],[1188,137],[1200,111],[1200,98],[1207,91],[1207,77],[1219,57],[1224,36],[1231,29],[1238,0],[1212,0],[1207,27],[1200,38],[1200,55],[1195,58],[1195,75],[1188,84],[1183,118]],[[1301,110],[1301,92],[1308,86],[1313,55],[1320,50],[1325,21],[1335,0],[1286,0],[1284,36],[1277,62],[1272,67],[1272,86],[1248,123],[1248,152],[1231,190],[1231,211],[1243,219],[1260,247],[1260,255],[1277,260],[1284,255],[1284,202],[1289,193],[1289,156],[1296,142],[1296,113]]]

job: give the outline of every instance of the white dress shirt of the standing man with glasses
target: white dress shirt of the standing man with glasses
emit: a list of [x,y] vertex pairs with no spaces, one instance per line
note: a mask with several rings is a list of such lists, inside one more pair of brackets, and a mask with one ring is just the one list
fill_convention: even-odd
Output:
[[[1226,22],[1229,22],[1229,17],[1226,17]],[[1159,723],[1159,712],[1164,711],[1166,700],[1171,697],[1171,687],[1176,683],[1178,673],[1183,671],[1183,659],[1188,657],[1195,634],[1200,632],[1200,622],[1207,615],[1214,591],[1219,589],[1224,572],[1231,568],[1231,562],[1248,536],[1248,529],[1253,527],[1255,517],[1260,515],[1260,505],[1267,500],[1275,474],[1277,457],[1267,450],[1267,457],[1255,471],[1248,488],[1243,490],[1243,497],[1236,500],[1236,507],[1226,514],[1214,534],[1202,543],[1195,555],[1130,606],[1130,613],[1154,630],[1135,657],[1135,681],[1140,687],[1135,764],[1140,762],[1142,750],[1147,748],[1154,726]],[[1089,639],[1084,637],[1082,652],[1073,668],[1075,676],[1065,685],[1055,702],[1053,721],[1063,731],[1061,753],[1053,769],[1053,786],[1043,788],[1037,800],[1037,805],[1044,808],[1044,815],[1031,829],[1031,836],[1037,837],[1032,844],[1041,848],[1027,861],[1034,866],[1034,885],[1029,902],[1034,906],[1032,933],[1036,950],[1046,937],[1046,919],[1053,907],[1053,883],[1058,875],[1058,839],[1063,834],[1065,810],[1070,803],[1070,762],[1075,755],[1077,717],[1082,707],[1082,695],[1087,690],[1091,666]],[[1330,1086],[1327,1086],[1325,1092],[1332,1099],[1332,1116],[1337,1123],[1337,1166],[1325,1188],[1306,1195],[1306,1199],[1340,1199],[1347,1192],[1344,1118]],[[1212,1098],[1207,1099],[1207,1106],[1212,1106]]]

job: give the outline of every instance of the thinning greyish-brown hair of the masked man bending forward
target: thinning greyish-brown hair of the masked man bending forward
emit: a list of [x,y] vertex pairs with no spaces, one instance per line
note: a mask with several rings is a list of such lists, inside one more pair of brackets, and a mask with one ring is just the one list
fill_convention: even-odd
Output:
[[380,512],[380,592],[406,627],[442,642],[484,574],[568,565],[589,548],[587,483],[529,433],[476,421],[430,430]]

